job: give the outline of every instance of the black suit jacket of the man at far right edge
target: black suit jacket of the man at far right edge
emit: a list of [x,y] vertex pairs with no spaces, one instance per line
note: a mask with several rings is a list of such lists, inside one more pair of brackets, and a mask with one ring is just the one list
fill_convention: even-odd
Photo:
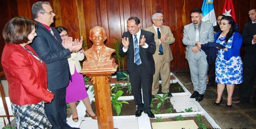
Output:
[[253,39],[253,35],[256,35],[256,23],[249,22],[244,25],[243,28],[243,44],[244,47],[244,55],[255,55],[256,44],[252,45],[251,41]]

